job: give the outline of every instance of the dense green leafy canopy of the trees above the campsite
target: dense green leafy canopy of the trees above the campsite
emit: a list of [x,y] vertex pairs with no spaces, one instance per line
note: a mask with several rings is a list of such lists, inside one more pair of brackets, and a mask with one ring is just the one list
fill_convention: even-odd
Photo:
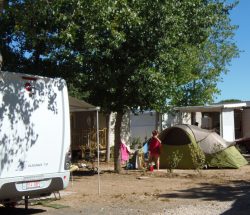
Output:
[[238,54],[224,0],[7,2],[3,69],[61,76],[108,113],[210,102]]

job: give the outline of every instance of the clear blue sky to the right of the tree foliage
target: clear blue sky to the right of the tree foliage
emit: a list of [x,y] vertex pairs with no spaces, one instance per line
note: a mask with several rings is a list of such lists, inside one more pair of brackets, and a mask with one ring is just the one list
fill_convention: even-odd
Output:
[[218,83],[221,94],[215,102],[225,99],[250,101],[250,0],[240,0],[231,12],[232,24],[238,25],[234,40],[241,51],[227,67],[229,72],[222,75],[223,82]]

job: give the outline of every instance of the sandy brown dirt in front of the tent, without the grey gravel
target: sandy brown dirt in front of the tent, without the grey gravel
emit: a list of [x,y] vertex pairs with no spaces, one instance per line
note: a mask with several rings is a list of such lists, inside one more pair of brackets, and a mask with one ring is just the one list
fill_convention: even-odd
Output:
[[[124,207],[144,213],[164,211],[179,204],[199,201],[233,201],[250,187],[250,166],[240,169],[166,170],[145,172],[124,170],[116,174],[112,164],[101,166],[100,195],[97,175],[73,175],[61,203],[74,208]],[[142,211],[140,211],[142,212]]]

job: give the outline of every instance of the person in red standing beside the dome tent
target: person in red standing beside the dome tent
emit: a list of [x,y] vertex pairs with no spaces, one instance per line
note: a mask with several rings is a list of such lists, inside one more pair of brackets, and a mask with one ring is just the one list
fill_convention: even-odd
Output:
[[160,150],[161,140],[158,138],[158,131],[152,131],[152,137],[149,143],[149,163],[155,162],[157,170],[160,168]]

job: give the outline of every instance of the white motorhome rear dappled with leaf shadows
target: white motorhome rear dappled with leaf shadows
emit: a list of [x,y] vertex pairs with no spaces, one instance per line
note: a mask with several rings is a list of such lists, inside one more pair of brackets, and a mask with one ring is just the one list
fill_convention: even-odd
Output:
[[46,196],[69,183],[66,83],[0,72],[0,202]]

